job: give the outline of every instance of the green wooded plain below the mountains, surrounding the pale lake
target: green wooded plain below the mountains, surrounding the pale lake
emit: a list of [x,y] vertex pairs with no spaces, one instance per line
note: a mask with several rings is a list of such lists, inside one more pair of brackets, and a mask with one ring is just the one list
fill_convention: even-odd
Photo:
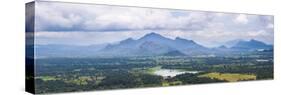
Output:
[[[44,58],[36,59],[35,66],[36,93],[273,79],[272,53],[216,57]],[[198,73],[164,77],[153,73],[159,69]]]

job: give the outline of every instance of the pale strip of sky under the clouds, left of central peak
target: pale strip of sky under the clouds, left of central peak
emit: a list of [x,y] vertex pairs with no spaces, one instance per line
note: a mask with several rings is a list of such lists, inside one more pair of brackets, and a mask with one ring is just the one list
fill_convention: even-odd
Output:
[[35,43],[38,45],[64,44],[64,45],[93,45],[117,43],[127,38],[139,39],[151,31],[122,31],[122,32],[36,32]]

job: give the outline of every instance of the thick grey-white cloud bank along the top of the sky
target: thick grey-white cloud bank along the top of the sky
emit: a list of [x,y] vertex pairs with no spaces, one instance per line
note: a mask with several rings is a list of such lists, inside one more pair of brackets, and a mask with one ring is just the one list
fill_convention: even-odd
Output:
[[38,2],[35,13],[36,31],[257,31],[273,22],[262,15],[49,2]]

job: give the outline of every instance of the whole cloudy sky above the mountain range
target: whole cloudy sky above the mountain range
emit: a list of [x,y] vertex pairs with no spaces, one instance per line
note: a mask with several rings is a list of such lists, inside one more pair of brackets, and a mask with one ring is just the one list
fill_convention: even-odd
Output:
[[93,45],[155,32],[217,47],[231,40],[273,44],[273,16],[37,2],[36,44]]

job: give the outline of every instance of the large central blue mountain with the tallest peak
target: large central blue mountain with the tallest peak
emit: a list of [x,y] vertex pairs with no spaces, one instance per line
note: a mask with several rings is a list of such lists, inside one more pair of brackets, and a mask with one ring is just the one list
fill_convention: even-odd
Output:
[[108,45],[101,54],[124,55],[124,56],[182,56],[192,53],[201,54],[207,49],[194,42],[180,37],[175,39],[166,38],[160,34],[151,32],[139,39],[127,38],[116,45]]

